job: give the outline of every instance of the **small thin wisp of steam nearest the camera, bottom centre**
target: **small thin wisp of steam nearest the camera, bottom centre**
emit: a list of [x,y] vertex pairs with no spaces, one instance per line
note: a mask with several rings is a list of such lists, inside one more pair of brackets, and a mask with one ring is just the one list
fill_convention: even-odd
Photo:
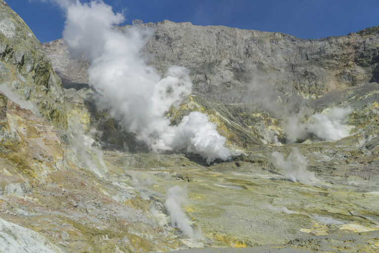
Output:
[[186,213],[182,210],[186,203],[187,191],[185,188],[176,185],[168,189],[164,206],[170,215],[171,225],[179,228],[189,238],[193,238],[196,233],[189,224]]

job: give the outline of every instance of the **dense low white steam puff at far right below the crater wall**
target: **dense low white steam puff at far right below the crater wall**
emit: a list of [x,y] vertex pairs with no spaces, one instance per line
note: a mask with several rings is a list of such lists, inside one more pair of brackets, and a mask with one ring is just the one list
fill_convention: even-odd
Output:
[[305,139],[314,135],[321,140],[339,140],[350,134],[350,126],[345,125],[345,120],[352,113],[352,109],[333,107],[327,108],[322,113],[315,113],[307,122],[302,122],[304,114],[288,117],[284,130],[290,142]]

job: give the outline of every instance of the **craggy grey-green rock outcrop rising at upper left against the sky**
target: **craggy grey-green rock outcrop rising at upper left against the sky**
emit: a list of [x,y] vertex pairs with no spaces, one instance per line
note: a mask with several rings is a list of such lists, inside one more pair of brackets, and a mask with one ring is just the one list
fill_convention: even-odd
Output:
[[63,133],[67,117],[60,78],[33,32],[3,0],[0,12],[0,84],[35,103],[38,113]]

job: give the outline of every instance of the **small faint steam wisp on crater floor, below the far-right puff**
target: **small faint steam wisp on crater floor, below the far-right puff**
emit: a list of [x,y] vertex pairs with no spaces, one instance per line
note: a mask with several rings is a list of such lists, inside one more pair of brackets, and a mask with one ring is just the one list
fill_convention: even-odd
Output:
[[272,159],[274,166],[281,169],[284,176],[294,182],[313,184],[317,180],[314,173],[306,169],[308,161],[297,148],[294,148],[288,157],[284,157],[279,152],[273,152]]

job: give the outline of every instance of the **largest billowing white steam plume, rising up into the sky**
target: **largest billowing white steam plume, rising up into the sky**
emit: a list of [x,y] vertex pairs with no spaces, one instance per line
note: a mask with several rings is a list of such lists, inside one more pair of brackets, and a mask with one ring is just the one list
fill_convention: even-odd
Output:
[[67,7],[63,37],[74,55],[89,60],[89,82],[101,94],[98,106],[109,109],[153,151],[187,150],[208,163],[230,157],[225,138],[206,115],[193,112],[179,126],[171,126],[164,115],[191,93],[189,70],[172,66],[161,78],[141,56],[153,31],[146,27],[121,31],[114,26],[123,21],[121,13],[115,14],[102,1],[76,1]]

